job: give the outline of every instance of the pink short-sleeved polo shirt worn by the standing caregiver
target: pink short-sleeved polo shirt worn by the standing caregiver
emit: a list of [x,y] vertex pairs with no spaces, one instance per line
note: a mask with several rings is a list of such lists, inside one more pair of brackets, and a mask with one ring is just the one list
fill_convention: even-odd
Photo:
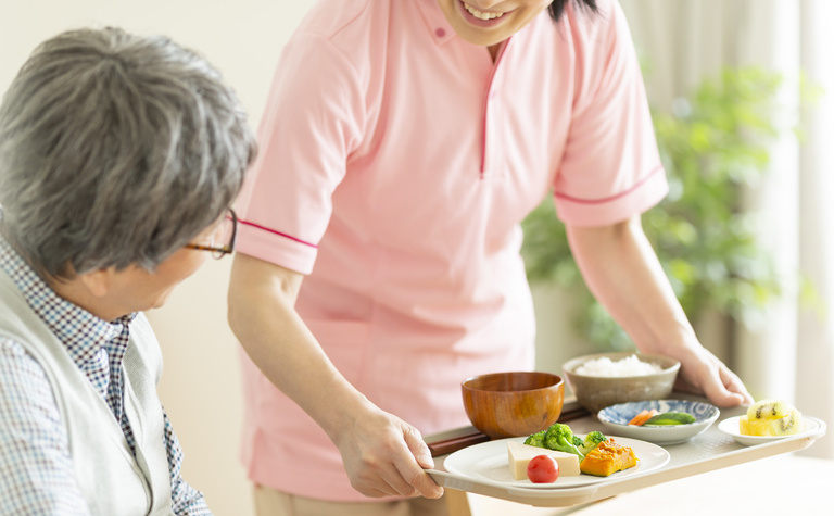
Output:
[[[586,226],[666,194],[626,20],[598,3],[543,13],[496,63],[435,0],[321,0],[283,50],[239,251],[306,275],[296,307],[330,360],[424,433],[468,424],[464,378],[533,367],[519,223],[551,189]],[[324,431],[243,367],[250,477],[367,501]]]

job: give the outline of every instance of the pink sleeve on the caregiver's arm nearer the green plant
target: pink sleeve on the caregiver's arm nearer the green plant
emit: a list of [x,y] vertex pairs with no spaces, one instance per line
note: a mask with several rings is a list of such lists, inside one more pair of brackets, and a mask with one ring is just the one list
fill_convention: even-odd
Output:
[[577,226],[623,221],[668,192],[640,63],[617,2],[567,12],[577,59],[573,117],[554,197]]

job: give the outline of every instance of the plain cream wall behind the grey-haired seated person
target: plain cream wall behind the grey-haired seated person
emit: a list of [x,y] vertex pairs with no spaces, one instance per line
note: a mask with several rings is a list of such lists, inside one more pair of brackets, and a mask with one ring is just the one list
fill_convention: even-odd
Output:
[[[0,91],[40,41],[80,26],[163,33],[205,55],[256,127],[275,62],[312,0],[0,0]],[[252,514],[238,461],[241,389],[226,325],[229,259],[210,261],[149,314],[165,356],[161,397],[185,449],[184,475],[217,515]]]

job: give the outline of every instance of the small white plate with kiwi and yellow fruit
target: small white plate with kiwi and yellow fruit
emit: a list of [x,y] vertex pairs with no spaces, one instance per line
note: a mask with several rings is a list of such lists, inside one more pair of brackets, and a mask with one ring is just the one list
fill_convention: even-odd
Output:
[[718,429],[745,446],[754,446],[786,438],[813,436],[825,431],[825,423],[806,416],[781,400],[757,401],[747,414],[728,417]]

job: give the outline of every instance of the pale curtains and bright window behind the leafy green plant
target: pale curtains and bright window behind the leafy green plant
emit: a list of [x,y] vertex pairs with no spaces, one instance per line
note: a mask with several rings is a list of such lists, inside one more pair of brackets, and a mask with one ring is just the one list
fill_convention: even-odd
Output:
[[[756,398],[792,400],[834,424],[834,2],[620,1],[656,109],[725,66],[758,64],[785,78],[780,124],[798,124],[803,139],[785,131],[772,148],[766,184],[747,202],[761,216],[760,238],[788,289],[763,327],[740,330],[719,356]],[[813,104],[799,102],[800,72],[824,91]],[[810,302],[804,282],[814,294]],[[834,458],[834,436],[803,453]]]

